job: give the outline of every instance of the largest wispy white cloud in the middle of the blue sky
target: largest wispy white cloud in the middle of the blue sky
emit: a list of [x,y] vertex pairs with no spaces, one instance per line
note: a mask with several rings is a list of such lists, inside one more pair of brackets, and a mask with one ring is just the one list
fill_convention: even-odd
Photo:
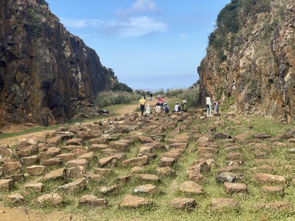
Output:
[[138,37],[151,32],[164,33],[168,26],[147,16],[132,17],[128,23],[120,24],[118,28],[121,37]]

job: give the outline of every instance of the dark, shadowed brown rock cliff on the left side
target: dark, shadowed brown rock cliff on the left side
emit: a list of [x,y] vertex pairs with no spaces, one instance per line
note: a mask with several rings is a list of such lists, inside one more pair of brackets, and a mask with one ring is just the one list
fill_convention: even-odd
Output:
[[106,87],[98,55],[44,0],[0,0],[0,124],[64,121]]

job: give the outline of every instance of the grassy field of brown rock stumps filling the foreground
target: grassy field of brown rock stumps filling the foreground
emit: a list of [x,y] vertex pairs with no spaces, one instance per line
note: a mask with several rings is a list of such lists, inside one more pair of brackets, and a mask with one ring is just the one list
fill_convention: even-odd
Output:
[[292,127],[204,110],[59,127],[0,146],[0,203],[67,220],[293,219]]

